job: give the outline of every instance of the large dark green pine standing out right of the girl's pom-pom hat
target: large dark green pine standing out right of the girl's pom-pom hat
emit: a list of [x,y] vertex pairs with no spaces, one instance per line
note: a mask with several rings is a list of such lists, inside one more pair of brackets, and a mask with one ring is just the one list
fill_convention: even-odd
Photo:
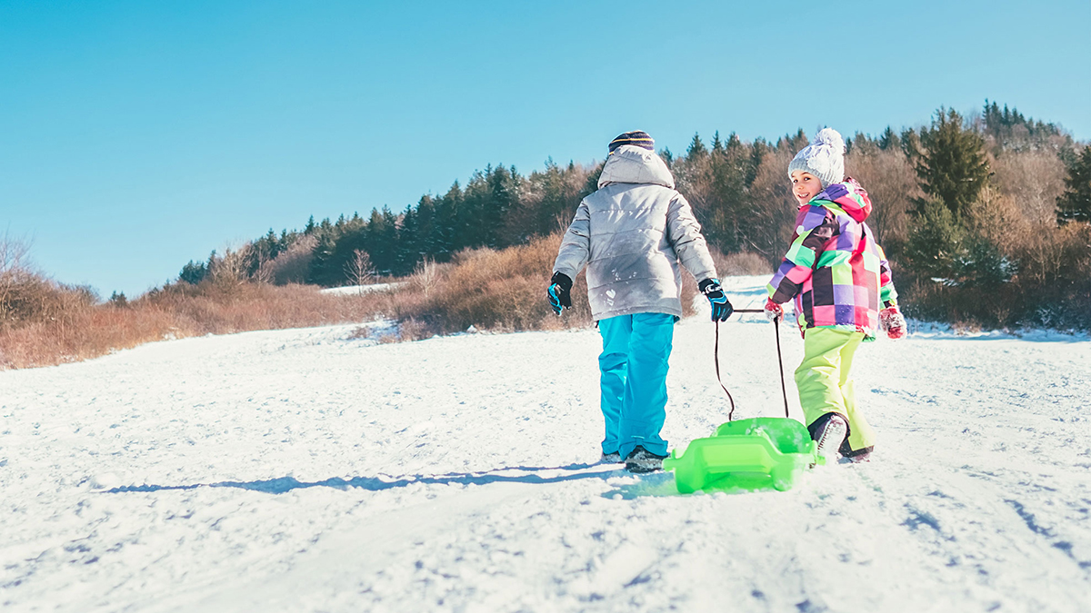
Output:
[[[954,109],[940,108],[932,127],[921,131],[915,161],[921,190],[943,202],[957,218],[978,200],[990,175],[984,139],[966,129]],[[919,208],[923,202],[918,200]]]

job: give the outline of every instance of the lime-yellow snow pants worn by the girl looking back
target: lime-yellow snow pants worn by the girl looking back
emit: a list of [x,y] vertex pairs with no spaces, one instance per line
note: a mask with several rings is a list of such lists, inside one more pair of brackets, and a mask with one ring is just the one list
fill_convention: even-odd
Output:
[[875,445],[875,431],[856,407],[856,390],[849,372],[852,357],[864,339],[862,332],[807,328],[803,336],[803,363],[795,369],[795,386],[807,425],[834,412],[849,422],[849,454]]

